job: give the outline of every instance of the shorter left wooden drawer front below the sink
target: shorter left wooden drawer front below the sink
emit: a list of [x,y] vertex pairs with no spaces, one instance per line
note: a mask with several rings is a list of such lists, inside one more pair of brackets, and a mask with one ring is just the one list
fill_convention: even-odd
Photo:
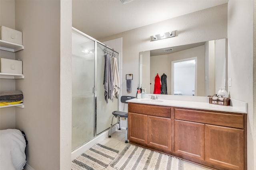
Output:
[[128,103],[128,112],[171,118],[171,107]]

